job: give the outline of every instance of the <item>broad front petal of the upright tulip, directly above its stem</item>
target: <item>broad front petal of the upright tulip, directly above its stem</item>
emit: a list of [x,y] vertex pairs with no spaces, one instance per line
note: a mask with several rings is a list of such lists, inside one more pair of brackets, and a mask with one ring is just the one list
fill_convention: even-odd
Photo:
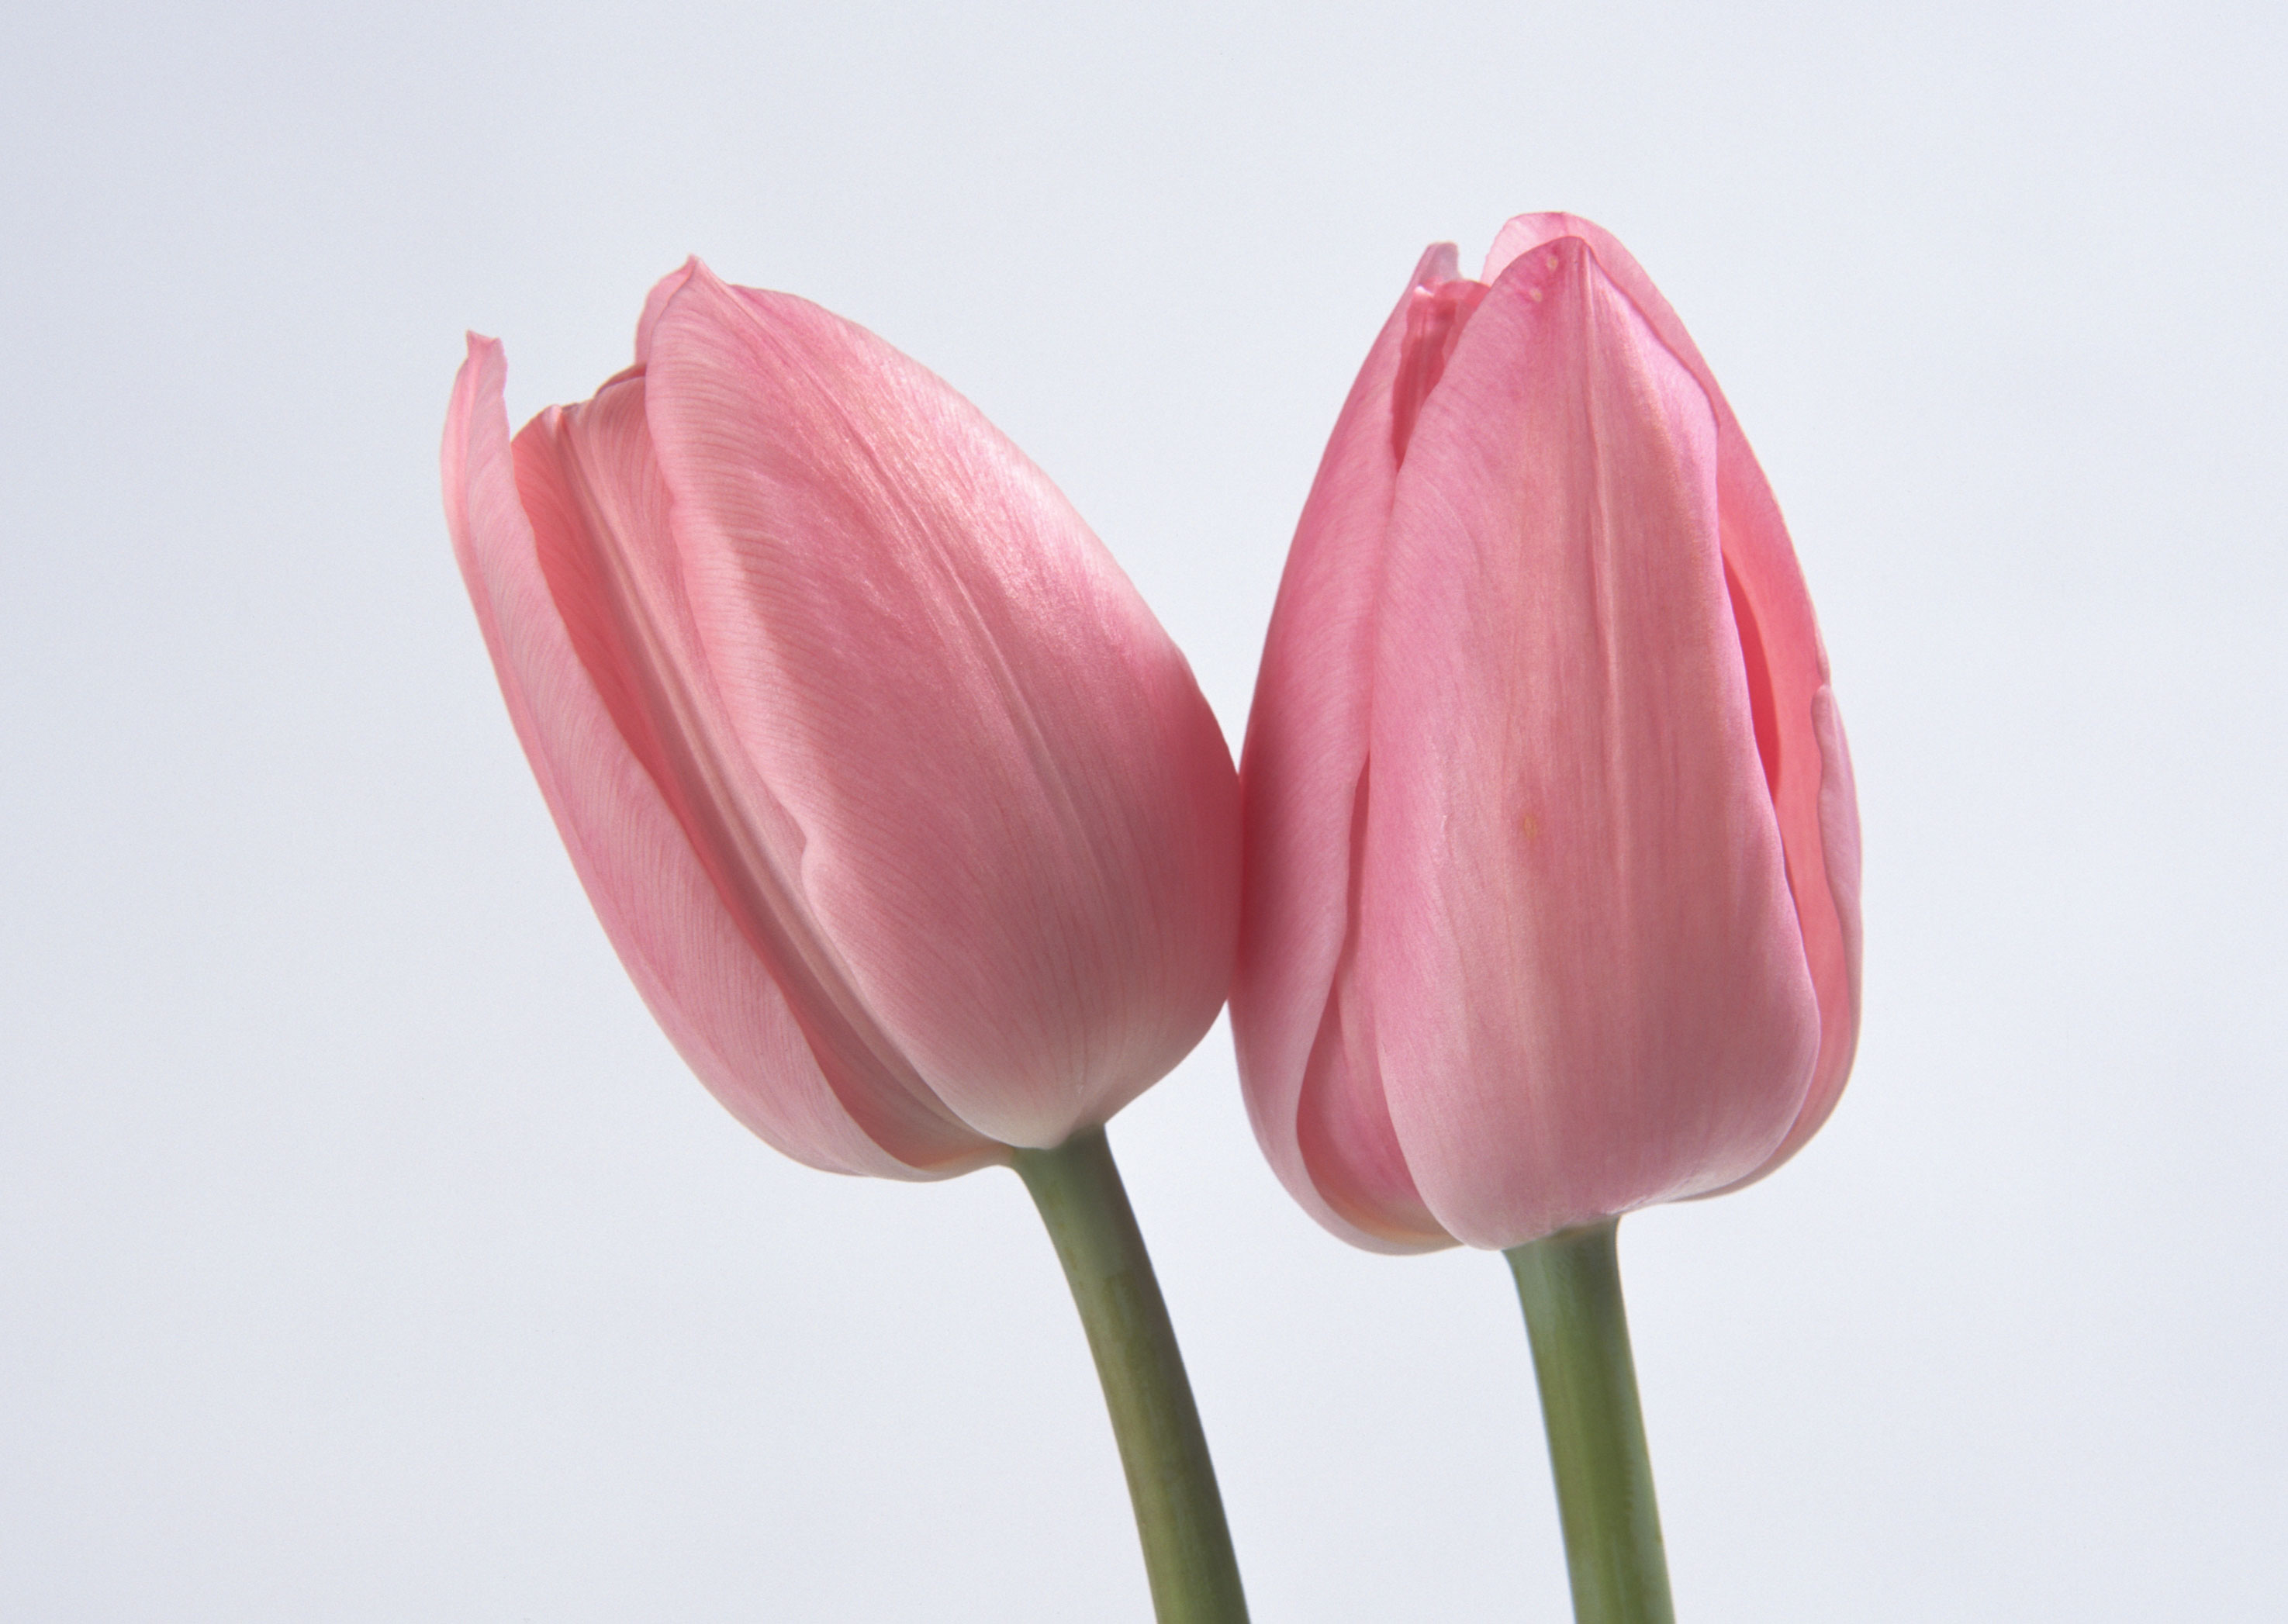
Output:
[[1471,1244],[1727,1185],[1812,1080],[1716,460],[1700,384],[1560,240],[1398,476],[1364,974],[1407,1167]]

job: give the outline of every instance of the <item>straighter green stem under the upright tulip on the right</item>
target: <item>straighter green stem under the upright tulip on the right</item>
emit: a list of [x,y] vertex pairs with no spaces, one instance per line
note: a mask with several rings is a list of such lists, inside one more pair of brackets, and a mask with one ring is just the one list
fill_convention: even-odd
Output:
[[1620,1219],[1604,1219],[1503,1256],[1517,1276],[1542,1388],[1574,1619],[1675,1624],[1629,1313],[1620,1301],[1618,1231]]

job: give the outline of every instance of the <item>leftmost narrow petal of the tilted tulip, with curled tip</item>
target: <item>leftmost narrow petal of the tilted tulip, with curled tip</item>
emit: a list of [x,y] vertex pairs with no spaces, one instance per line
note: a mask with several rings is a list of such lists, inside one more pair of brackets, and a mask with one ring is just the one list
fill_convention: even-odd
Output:
[[[517,499],[503,382],[501,345],[471,334],[442,460],[453,551],[517,739],[645,1004],[732,1116],[794,1160],[890,1178],[961,1171],[906,1167],[858,1130],[659,785],[613,725],[542,576]],[[986,1146],[975,1160],[993,1153]]]

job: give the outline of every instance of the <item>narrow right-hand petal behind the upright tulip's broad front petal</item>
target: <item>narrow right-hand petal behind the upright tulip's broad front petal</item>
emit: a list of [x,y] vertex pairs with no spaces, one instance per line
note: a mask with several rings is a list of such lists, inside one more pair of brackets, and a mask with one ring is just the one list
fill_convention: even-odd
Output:
[[[1684,364],[1707,391],[1716,412],[1716,487],[1723,510],[1723,554],[1730,572],[1734,611],[1741,622],[1741,645],[1750,659],[1750,679],[1762,682],[1757,698],[1757,743],[1771,778],[1773,805],[1780,814],[1780,839],[1787,846],[1787,881],[1803,926],[1803,952],[1812,984],[1819,988],[1819,1066],[1803,1100],[1803,1116],[1787,1141],[1750,1178],[1762,1178],[1785,1162],[1835,1109],[1851,1057],[1858,1050],[1858,810],[1849,812],[1851,853],[1837,862],[1826,851],[1824,807],[1833,801],[1830,759],[1840,759],[1842,782],[1849,782],[1849,757],[1830,757],[1821,743],[1814,716],[1817,695],[1828,686],[1828,654],[1819,640],[1812,597],[1787,540],[1780,503],[1748,451],[1748,437],[1732,416],[1716,375],[1700,357],[1684,323],[1661,297],[1645,270],[1604,229],[1576,215],[1519,215],[1494,238],[1485,261],[1487,281],[1515,258],[1579,238],[1597,256],[1604,274],[1636,304],[1661,343]],[[1833,707],[1833,698],[1828,700]],[[1842,723],[1835,723],[1840,750]],[[1844,791],[1849,794],[1849,791]],[[1849,897],[1837,890],[1849,869]],[[1748,1183],[1748,1180],[1743,1180]],[[1714,1194],[1714,1192],[1711,1192]]]

